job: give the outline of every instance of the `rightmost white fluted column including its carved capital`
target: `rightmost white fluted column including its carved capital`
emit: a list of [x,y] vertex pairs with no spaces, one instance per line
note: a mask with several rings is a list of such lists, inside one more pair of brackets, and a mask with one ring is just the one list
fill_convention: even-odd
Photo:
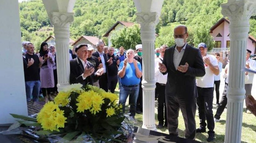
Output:
[[[254,1],[254,2],[253,2]],[[227,90],[225,143],[241,143],[244,72],[249,18],[256,12],[255,0],[229,1],[222,4],[222,14],[230,19],[230,69]]]

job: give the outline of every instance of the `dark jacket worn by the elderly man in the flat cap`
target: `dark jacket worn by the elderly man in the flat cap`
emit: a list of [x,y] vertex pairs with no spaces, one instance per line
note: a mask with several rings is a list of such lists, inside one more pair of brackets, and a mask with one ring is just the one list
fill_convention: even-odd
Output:
[[[87,68],[93,67],[92,63],[87,63]],[[94,76],[94,73],[96,72],[94,70],[93,74],[90,76],[87,76],[85,80],[82,78],[82,74],[84,73],[85,68],[79,58],[75,58],[73,60],[70,60],[70,76],[69,76],[69,83],[81,83],[82,85],[90,84],[92,85],[94,83],[96,76]]]

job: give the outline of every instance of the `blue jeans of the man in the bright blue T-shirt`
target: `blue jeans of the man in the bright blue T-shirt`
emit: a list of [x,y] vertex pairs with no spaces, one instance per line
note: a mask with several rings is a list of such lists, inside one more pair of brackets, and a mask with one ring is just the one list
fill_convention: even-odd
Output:
[[127,97],[129,96],[129,102],[130,102],[130,116],[135,116],[136,111],[136,103],[138,99],[139,94],[139,84],[134,87],[126,87],[124,85],[120,86],[120,93],[119,93],[119,104],[123,105],[123,112],[125,108],[125,102]]

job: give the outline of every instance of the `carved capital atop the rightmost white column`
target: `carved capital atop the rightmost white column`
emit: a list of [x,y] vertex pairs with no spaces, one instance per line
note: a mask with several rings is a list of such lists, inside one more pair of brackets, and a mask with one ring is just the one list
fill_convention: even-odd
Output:
[[[221,13],[228,16],[233,24],[249,24],[249,18],[256,14],[256,3],[252,0],[232,1],[221,4]],[[230,23],[232,25],[232,23]]]

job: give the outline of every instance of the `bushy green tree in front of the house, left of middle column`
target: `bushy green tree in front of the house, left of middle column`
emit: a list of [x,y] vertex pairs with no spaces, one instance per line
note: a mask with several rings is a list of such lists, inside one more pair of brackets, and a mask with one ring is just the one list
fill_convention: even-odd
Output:
[[113,32],[113,36],[110,41],[112,46],[115,48],[123,46],[126,50],[135,49],[135,45],[142,43],[141,32],[138,24]]

